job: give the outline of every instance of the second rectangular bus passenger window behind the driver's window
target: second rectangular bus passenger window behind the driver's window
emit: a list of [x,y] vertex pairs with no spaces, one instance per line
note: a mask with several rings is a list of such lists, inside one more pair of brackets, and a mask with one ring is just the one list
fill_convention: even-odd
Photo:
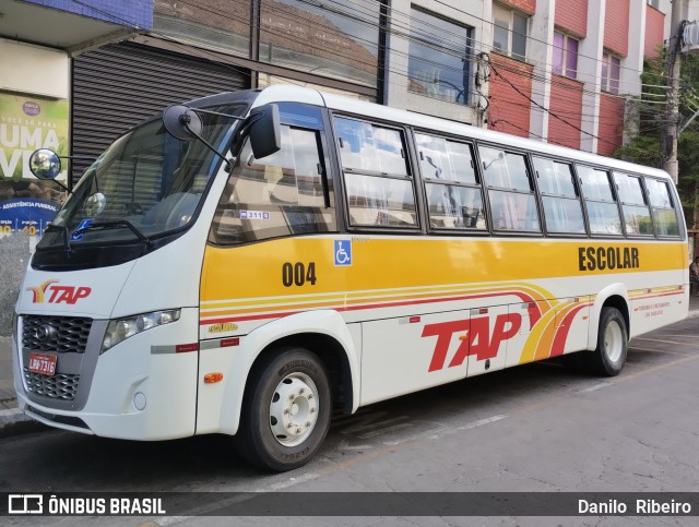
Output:
[[483,194],[471,145],[415,134],[433,229],[485,230]]

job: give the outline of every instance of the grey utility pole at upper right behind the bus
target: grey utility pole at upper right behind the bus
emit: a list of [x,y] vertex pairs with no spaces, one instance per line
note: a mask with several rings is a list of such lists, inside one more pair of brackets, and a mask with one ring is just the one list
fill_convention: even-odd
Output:
[[684,0],[672,0],[673,11],[670,23],[671,37],[667,46],[667,106],[665,117],[665,133],[662,137],[663,168],[677,183],[679,177],[677,164],[677,135],[679,129],[679,69],[682,56],[679,53],[682,40],[682,20]]

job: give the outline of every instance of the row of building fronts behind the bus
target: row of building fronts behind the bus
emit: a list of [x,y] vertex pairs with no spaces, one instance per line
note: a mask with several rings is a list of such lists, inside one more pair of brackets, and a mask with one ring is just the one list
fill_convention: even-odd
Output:
[[608,155],[670,11],[670,0],[0,0],[0,243],[12,245],[0,251],[0,313],[64,197],[29,173],[36,147],[81,156],[61,175],[70,187],[167,105],[291,83]]

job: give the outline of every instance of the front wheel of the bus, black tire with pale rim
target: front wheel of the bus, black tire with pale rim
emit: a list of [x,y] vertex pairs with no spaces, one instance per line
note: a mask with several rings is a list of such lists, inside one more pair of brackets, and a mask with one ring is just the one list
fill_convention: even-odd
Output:
[[330,428],[332,402],[322,362],[306,349],[286,348],[250,375],[235,436],[239,453],[279,472],[307,464]]

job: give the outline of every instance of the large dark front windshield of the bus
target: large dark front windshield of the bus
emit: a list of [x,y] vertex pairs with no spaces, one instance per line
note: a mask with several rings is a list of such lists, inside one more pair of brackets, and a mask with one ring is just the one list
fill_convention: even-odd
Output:
[[[246,105],[206,110],[241,117]],[[237,120],[202,113],[201,136],[226,152]],[[202,142],[179,141],[161,119],[115,141],[87,169],[37,245],[145,241],[191,224],[221,158]],[[66,231],[67,229],[67,231]]]

